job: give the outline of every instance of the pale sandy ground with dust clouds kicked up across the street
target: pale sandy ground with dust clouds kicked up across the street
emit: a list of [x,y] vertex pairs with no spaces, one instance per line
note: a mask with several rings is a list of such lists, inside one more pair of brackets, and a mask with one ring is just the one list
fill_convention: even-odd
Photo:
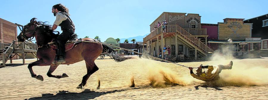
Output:
[[[233,69],[223,70],[220,73],[225,82],[218,85],[206,85],[208,83],[191,77],[188,68],[168,62],[138,57],[115,62],[108,59],[109,57],[106,58],[95,60],[99,70],[91,75],[82,90],[76,87],[86,74],[84,61],[72,65],[60,65],[52,74],[66,73],[69,76],[61,79],[46,76],[49,66],[34,66],[35,74],[42,75],[44,81],[32,78],[28,65],[0,68],[0,99],[268,99],[268,58],[233,60]],[[27,59],[26,63],[35,60]],[[197,67],[200,64],[225,65],[229,61],[178,64]],[[22,60],[13,60],[13,63],[22,63]],[[135,87],[129,87],[132,77]],[[100,89],[96,89],[98,79]],[[166,85],[167,81],[176,84]]]

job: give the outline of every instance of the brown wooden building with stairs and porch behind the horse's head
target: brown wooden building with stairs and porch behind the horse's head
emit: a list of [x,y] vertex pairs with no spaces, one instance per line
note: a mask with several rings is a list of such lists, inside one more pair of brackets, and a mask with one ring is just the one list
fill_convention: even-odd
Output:
[[0,66],[6,66],[7,60],[12,63],[13,59],[21,57],[25,64],[26,54],[36,56],[37,45],[29,42],[17,42],[17,24],[0,18]]

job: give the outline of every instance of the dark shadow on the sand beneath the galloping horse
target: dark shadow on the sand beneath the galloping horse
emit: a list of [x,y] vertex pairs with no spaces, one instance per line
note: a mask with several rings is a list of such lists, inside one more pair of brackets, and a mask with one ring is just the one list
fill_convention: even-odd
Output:
[[115,93],[115,92],[121,92],[125,90],[113,90],[113,91],[107,91],[107,92],[96,92],[91,91],[90,89],[85,89],[81,93],[76,92],[68,92],[68,91],[59,91],[56,95],[53,95],[51,93],[42,94],[41,97],[33,97],[25,100],[56,100],[56,99],[65,99],[65,100],[88,100],[88,99],[94,99],[96,97],[108,94],[108,93]]

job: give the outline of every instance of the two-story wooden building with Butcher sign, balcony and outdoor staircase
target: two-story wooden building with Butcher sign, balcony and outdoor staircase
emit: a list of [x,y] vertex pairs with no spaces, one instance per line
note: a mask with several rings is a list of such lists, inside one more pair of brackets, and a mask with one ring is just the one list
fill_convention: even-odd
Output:
[[[167,21],[166,28],[160,26],[154,29],[158,22]],[[147,44],[147,54],[159,57],[163,55],[163,47],[170,46],[171,54],[178,57],[183,54],[186,57],[205,57],[208,52],[213,52],[207,46],[207,29],[201,28],[201,16],[199,14],[187,14],[176,12],[163,12],[150,25],[150,34],[143,39]],[[162,56],[163,58],[163,56]]]

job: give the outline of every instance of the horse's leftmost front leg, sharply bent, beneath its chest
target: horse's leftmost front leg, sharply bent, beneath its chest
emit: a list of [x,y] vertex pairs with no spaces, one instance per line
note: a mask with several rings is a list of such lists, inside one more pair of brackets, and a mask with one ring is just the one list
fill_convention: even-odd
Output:
[[38,79],[38,80],[43,81],[44,80],[43,76],[41,76],[41,75],[36,76],[36,74],[32,70],[32,66],[43,66],[43,65],[47,65],[47,62],[44,62],[42,59],[37,60],[37,61],[32,62],[32,63],[29,63],[28,69],[29,69],[29,71],[31,73],[31,76],[36,78],[36,79]]

